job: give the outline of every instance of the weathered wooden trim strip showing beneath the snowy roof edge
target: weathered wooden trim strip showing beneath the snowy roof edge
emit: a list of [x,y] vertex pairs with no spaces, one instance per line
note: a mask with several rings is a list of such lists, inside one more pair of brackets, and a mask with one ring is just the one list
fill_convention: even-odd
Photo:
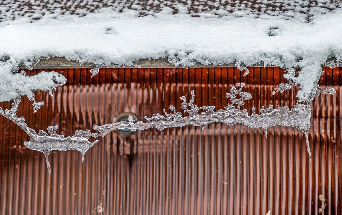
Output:
[[[334,60],[333,58],[328,58],[328,61]],[[172,65],[167,58],[154,59],[141,59],[136,63],[141,67],[155,67],[155,68],[166,68],[166,67],[176,67]],[[94,63],[79,63],[76,60],[67,60],[64,57],[53,57],[50,59],[41,59],[35,66],[35,68],[94,68],[96,64]],[[340,63],[339,66],[342,66]],[[135,66],[127,66],[126,68],[134,68]],[[182,66],[177,66],[182,67]],[[222,65],[203,65],[198,64],[195,67],[235,67],[235,64],[222,64]],[[264,67],[261,64],[250,65],[250,67]],[[270,67],[270,66],[268,66]],[[19,68],[26,68],[23,64],[19,65]],[[106,68],[104,66],[104,68]]]

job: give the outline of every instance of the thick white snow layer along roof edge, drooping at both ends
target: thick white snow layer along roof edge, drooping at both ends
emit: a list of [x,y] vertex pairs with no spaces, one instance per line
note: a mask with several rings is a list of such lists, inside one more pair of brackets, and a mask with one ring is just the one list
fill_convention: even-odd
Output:
[[[168,8],[154,15],[139,15],[134,10],[119,13],[100,9],[83,17],[48,14],[32,23],[27,17],[0,22],[0,58],[9,59],[0,64],[4,77],[0,90],[17,85],[23,78],[12,74],[13,66],[24,61],[32,67],[41,57],[66,57],[98,65],[134,65],[143,58],[167,57],[172,64],[184,67],[264,62],[288,68],[286,77],[300,85],[298,97],[304,100],[316,90],[321,64],[327,57],[342,59],[341,9],[318,13],[310,22],[267,14],[257,18],[253,14],[193,17],[172,14]],[[293,74],[294,67],[301,68],[298,77]],[[29,82],[18,86],[33,89]],[[0,101],[15,96],[5,93]]]

